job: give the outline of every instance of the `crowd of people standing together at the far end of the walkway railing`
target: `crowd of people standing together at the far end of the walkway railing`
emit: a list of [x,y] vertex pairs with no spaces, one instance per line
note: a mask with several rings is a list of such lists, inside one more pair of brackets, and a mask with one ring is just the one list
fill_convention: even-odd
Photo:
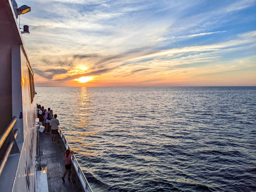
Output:
[[60,125],[57,119],[57,114],[53,115],[53,111],[48,108],[48,111],[44,109],[44,106],[37,105],[37,118],[45,127],[45,134],[51,133],[51,143],[59,143],[58,137],[58,125]]

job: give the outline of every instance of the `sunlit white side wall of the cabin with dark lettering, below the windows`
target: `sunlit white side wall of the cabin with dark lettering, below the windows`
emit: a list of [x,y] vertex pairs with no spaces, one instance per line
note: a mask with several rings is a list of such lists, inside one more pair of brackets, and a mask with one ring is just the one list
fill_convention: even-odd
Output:
[[17,169],[16,179],[12,191],[36,191],[36,101],[31,104],[29,92],[28,61],[24,51],[20,49],[21,63],[21,93],[23,112],[24,144]]

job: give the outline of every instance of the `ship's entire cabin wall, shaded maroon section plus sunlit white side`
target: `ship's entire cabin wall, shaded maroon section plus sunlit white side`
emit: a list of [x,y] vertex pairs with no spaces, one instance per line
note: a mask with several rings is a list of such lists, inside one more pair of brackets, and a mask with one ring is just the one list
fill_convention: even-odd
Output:
[[[36,191],[37,113],[36,101],[31,103],[28,67],[32,73],[33,70],[30,67],[11,0],[0,1],[0,16],[2,26],[0,27],[0,106],[4,111],[0,133],[6,129],[14,116],[19,117],[13,127],[13,132],[19,130],[12,147],[13,152],[8,156],[0,176],[0,192]],[[13,134],[12,131],[10,134]],[[1,147],[1,158],[8,143],[9,140],[6,140]]]

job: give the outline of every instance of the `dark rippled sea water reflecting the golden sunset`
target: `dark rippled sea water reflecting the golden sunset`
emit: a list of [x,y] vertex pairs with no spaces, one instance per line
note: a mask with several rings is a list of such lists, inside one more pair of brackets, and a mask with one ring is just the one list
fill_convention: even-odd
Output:
[[38,87],[97,191],[256,191],[256,87]]

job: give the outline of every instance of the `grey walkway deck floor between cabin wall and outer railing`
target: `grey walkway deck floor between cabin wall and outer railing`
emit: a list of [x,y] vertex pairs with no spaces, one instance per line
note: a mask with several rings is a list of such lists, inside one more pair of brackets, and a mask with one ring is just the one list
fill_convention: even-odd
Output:
[[[43,154],[46,151],[56,151],[56,153]],[[41,161],[45,161],[47,164],[60,163],[59,167],[47,168],[47,182],[49,192],[75,192],[73,183],[68,180],[68,174],[65,176],[65,183],[61,177],[65,172],[65,163],[59,143],[51,143],[50,133],[40,133],[40,155]]]

